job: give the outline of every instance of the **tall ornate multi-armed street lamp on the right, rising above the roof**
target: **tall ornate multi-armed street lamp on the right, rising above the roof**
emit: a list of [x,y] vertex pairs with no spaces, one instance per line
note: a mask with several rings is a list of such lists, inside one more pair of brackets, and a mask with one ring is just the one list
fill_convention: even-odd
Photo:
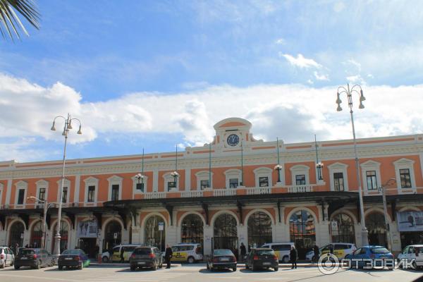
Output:
[[[340,91],[341,90],[341,91]],[[358,92],[360,90],[360,92]],[[347,94],[348,98],[348,107],[350,108],[350,116],[351,116],[351,125],[353,126],[353,139],[354,139],[354,155],[355,155],[355,172],[357,173],[357,183],[358,183],[358,197],[360,198],[360,221],[362,226],[362,245],[367,245],[369,243],[368,238],[368,231],[366,228],[366,222],[364,220],[364,202],[363,202],[363,195],[362,195],[362,185],[360,179],[360,166],[357,157],[357,141],[355,140],[355,128],[354,128],[354,116],[353,116],[353,93],[357,93],[360,95],[360,106],[358,109],[364,109],[363,101],[366,99],[363,95],[363,90],[360,85],[354,85],[350,88],[350,84],[347,84],[347,88],[341,86],[338,87],[338,92],[336,93],[336,104],[338,104],[338,108],[336,111],[342,111],[341,108],[341,94]]]

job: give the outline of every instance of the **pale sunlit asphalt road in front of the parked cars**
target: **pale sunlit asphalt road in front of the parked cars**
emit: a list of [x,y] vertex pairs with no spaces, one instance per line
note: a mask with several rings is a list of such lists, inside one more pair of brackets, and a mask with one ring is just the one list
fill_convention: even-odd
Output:
[[257,271],[239,267],[238,271],[207,271],[204,264],[176,266],[171,269],[158,269],[157,271],[142,270],[130,271],[128,267],[88,267],[82,270],[59,271],[57,266],[42,269],[14,270],[6,267],[0,270],[0,281],[8,282],[216,282],[216,281],[395,281],[407,282],[423,276],[423,271],[395,269],[388,270],[339,270],[336,274],[324,275],[317,267],[298,269],[281,268],[279,271]]

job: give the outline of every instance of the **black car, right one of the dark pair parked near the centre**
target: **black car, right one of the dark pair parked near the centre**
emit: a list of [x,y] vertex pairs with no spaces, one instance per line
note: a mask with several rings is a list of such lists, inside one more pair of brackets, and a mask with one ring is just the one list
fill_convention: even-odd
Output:
[[271,248],[259,247],[252,249],[250,254],[247,256],[245,268],[252,269],[252,271],[272,268],[274,271],[278,271],[278,256],[276,256],[274,250]]

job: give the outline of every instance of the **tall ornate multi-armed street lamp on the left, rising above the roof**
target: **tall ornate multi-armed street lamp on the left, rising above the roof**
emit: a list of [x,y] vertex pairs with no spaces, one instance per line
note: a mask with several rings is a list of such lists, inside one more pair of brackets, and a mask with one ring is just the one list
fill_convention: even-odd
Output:
[[57,221],[57,231],[56,235],[54,236],[54,255],[60,255],[60,223],[61,223],[61,204],[62,204],[62,194],[63,194],[63,184],[65,180],[65,164],[66,164],[66,142],[68,140],[68,133],[69,130],[72,129],[72,121],[78,121],[79,123],[79,130],[77,134],[82,134],[81,131],[81,121],[78,118],[72,118],[70,114],[68,114],[68,118],[65,118],[64,116],[56,116],[53,120],[53,125],[51,125],[51,130],[55,131],[56,128],[54,127],[56,123],[56,118],[63,118],[63,121],[65,121],[65,125],[63,126],[63,133],[62,135],[65,137],[65,145],[63,147],[63,168],[62,168],[62,176],[61,176],[61,186],[59,190],[59,212],[57,214],[58,221]]

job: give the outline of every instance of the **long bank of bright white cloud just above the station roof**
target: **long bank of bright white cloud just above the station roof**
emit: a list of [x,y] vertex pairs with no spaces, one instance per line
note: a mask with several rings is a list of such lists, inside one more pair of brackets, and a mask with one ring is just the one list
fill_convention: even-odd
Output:
[[[364,87],[366,108],[355,111],[357,136],[422,133],[422,91],[423,85]],[[314,133],[319,140],[351,137],[348,111],[336,112],[336,87],[220,85],[177,94],[138,92],[103,102],[82,102],[78,92],[59,82],[42,87],[0,75],[0,97],[0,159],[28,159],[26,154],[43,158],[46,154],[32,149],[33,138],[61,140],[60,132],[49,128],[54,116],[67,112],[81,119],[84,132],[73,134],[71,142],[102,142],[96,140],[99,133],[121,137],[176,133],[183,135],[180,146],[204,145],[212,140],[214,123],[230,116],[249,118],[252,133],[265,140],[278,136],[286,142],[310,141]],[[346,98],[341,99],[345,108]],[[358,97],[354,102],[357,108]],[[60,126],[56,125],[58,131]]]

